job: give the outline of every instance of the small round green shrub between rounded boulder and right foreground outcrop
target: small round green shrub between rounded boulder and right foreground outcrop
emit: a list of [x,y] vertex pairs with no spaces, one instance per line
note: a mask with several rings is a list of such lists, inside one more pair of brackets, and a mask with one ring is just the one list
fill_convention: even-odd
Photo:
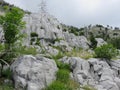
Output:
[[70,79],[69,71],[65,69],[60,69],[56,75],[57,75],[57,80],[63,83],[67,83],[68,80]]

